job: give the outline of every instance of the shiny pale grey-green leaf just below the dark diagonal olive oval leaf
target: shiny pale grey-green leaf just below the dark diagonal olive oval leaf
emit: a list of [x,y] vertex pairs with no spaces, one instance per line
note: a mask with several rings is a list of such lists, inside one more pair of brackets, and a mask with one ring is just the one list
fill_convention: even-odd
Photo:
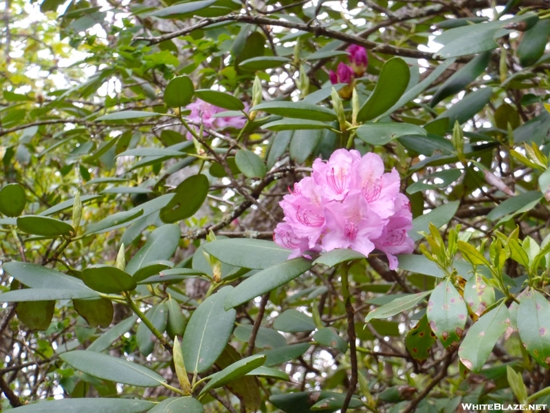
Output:
[[159,226],[149,235],[144,246],[126,264],[126,273],[134,275],[140,268],[157,260],[168,260],[179,244],[179,226]]

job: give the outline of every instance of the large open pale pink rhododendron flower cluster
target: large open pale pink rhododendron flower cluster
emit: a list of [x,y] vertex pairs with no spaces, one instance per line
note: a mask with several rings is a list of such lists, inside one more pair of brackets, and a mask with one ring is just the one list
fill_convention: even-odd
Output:
[[399,173],[384,173],[376,153],[338,149],[328,162],[316,159],[311,176],[294,185],[279,203],[284,222],[274,231],[275,242],[292,249],[289,258],[307,251],[351,248],[369,255],[386,253],[390,268],[395,255],[412,253],[414,242],[408,198],[399,193]]

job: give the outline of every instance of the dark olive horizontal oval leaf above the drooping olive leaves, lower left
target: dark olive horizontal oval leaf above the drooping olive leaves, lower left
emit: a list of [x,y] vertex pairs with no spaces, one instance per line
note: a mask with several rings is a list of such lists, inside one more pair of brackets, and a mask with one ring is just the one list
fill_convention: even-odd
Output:
[[135,279],[128,273],[107,265],[98,265],[85,268],[82,272],[84,284],[92,290],[105,294],[118,294],[131,291],[137,287]]

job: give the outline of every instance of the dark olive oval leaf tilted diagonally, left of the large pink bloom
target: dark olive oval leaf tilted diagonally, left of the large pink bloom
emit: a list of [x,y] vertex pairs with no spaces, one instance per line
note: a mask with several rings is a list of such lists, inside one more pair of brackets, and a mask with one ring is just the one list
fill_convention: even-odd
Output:
[[160,210],[162,222],[171,223],[191,217],[206,200],[208,178],[199,173],[181,182],[174,190],[174,198]]

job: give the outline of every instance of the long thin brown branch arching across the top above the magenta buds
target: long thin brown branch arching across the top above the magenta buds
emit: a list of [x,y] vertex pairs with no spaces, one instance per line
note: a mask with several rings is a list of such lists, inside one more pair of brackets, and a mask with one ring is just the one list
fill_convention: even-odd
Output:
[[194,30],[205,28],[206,26],[209,26],[212,24],[223,23],[224,21],[236,21],[239,23],[250,23],[250,24],[257,24],[257,25],[272,25],[272,26],[279,26],[279,27],[289,28],[289,29],[303,30],[305,32],[314,33],[316,36],[326,36],[326,37],[329,37],[330,39],[336,39],[336,40],[345,41],[346,43],[360,45],[360,46],[366,47],[366,49],[371,50],[371,52],[373,53],[391,54],[395,56],[405,56],[405,57],[412,57],[416,59],[426,59],[428,61],[442,60],[442,59],[435,59],[433,54],[430,52],[422,52],[421,50],[407,49],[404,47],[386,45],[384,43],[376,43],[374,41],[362,39],[359,36],[355,36],[353,34],[337,32],[336,30],[327,29],[319,25],[314,25],[314,24],[310,25],[306,23],[294,23],[292,21],[276,20],[276,19],[270,19],[267,17],[250,16],[247,14],[228,14],[227,16],[202,19],[201,21],[199,21],[199,23],[195,25],[191,25],[188,28],[185,28],[182,30],[177,30],[175,32],[163,34],[162,36],[157,36],[157,37],[138,36],[138,37],[135,37],[133,40],[147,41],[149,45],[156,45],[158,43],[162,43],[163,41],[174,39],[175,37],[184,36],[186,34],[189,34],[190,32],[193,32]]

